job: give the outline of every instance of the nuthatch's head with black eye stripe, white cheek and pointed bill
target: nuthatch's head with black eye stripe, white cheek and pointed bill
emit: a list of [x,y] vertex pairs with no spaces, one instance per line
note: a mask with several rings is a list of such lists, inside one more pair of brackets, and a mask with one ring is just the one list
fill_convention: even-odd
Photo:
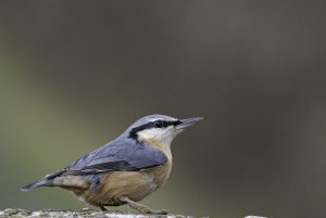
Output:
[[138,119],[126,132],[129,138],[138,141],[170,145],[179,132],[201,119],[203,117],[177,119],[165,115],[149,115]]

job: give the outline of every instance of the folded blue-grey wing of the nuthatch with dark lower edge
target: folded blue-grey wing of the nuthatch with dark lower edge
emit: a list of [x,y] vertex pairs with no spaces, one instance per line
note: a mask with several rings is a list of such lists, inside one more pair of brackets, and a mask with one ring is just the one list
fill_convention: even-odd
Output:
[[158,149],[134,139],[117,139],[77,159],[66,174],[89,175],[104,171],[136,171],[163,165],[166,155]]

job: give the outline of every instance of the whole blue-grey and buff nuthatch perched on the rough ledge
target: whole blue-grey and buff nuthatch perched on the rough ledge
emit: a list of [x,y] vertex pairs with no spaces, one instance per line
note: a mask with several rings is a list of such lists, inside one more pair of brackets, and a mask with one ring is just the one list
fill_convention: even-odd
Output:
[[59,187],[103,211],[126,204],[141,214],[165,215],[165,209],[154,210],[138,202],[166,182],[173,139],[202,119],[159,114],[141,117],[116,139],[21,190]]

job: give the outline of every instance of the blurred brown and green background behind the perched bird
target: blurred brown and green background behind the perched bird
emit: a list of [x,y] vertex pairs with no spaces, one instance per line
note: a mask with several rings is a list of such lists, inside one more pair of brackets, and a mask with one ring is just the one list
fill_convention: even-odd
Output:
[[85,207],[18,188],[159,113],[205,119],[143,204],[322,217],[324,49],[322,1],[1,1],[0,207]]

